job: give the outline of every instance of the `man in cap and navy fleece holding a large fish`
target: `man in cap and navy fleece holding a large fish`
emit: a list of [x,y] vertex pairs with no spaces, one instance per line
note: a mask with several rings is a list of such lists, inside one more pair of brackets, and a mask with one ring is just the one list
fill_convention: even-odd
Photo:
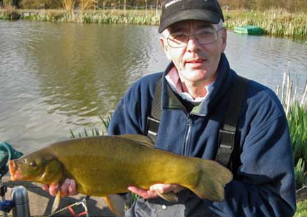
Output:
[[[215,0],[167,0],[160,19],[160,44],[170,59],[164,73],[142,77],[123,96],[109,133],[147,135],[147,117],[162,80],[162,116],[156,148],[214,160],[218,131],[230,90],[237,78],[224,51],[227,33]],[[239,167],[225,186],[225,200],[201,200],[179,185],[156,184],[150,189],[129,186],[141,197],[126,216],[292,216],[296,209],[292,147],[287,119],[273,91],[249,81],[239,115],[236,144]],[[161,171],[163,172],[163,171]],[[57,188],[50,188],[54,195]],[[75,183],[61,186],[75,194]],[[166,202],[157,192],[177,193]]]

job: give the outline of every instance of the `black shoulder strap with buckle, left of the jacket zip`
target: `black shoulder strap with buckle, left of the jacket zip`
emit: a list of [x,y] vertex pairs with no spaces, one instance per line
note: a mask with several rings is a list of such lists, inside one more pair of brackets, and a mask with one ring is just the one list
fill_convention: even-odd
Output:
[[147,117],[147,136],[151,138],[153,142],[156,142],[160,119],[162,115],[162,77],[158,80],[155,94],[153,95],[153,102],[151,105],[151,115]]

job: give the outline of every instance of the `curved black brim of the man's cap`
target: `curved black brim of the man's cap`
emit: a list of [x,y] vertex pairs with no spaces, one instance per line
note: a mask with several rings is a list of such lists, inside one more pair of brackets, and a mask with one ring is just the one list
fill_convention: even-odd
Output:
[[175,22],[180,22],[184,20],[202,20],[205,22],[210,22],[218,24],[220,22],[220,15],[214,13],[211,10],[203,9],[189,9],[189,10],[180,10],[177,13],[165,17],[164,21],[160,23],[158,33],[163,32],[167,27],[174,24]]

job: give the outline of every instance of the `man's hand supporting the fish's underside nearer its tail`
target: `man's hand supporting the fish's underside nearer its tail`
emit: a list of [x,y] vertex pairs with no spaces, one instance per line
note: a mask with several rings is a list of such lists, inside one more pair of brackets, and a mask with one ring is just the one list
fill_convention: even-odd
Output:
[[158,197],[158,193],[169,193],[174,192],[177,193],[180,190],[183,190],[184,186],[180,186],[177,184],[154,184],[153,186],[150,186],[149,190],[144,190],[142,188],[137,188],[135,186],[128,186],[128,190],[130,190],[132,193],[135,193],[144,199],[153,199]]

